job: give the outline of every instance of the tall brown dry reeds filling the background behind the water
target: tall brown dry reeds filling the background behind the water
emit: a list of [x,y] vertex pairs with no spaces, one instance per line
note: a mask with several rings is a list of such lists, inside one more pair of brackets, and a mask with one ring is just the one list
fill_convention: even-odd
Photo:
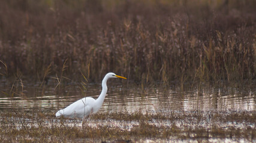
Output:
[[82,72],[98,82],[109,71],[138,83],[252,80],[255,7],[254,0],[4,0],[0,71],[6,65],[7,77],[44,80],[65,63],[61,75],[73,80]]

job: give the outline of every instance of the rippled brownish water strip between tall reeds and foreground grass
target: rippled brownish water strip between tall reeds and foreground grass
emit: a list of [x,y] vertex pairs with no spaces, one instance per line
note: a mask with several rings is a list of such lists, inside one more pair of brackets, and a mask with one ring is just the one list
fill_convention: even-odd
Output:
[[[10,108],[40,108],[53,113],[67,107],[83,97],[98,98],[101,85],[87,85],[86,91],[80,86],[68,85],[61,88],[38,85],[18,87],[10,92],[11,86],[1,86],[0,111]],[[7,93],[7,94],[4,94]],[[15,93],[11,95],[12,93]],[[229,86],[183,89],[140,86],[109,86],[109,91],[100,111],[159,111],[159,110],[246,110],[255,111],[256,87]]]

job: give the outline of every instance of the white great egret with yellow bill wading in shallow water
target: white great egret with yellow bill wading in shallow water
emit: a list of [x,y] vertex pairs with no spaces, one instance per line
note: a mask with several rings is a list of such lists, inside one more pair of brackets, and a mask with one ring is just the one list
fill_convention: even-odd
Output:
[[97,111],[100,110],[101,105],[103,105],[103,101],[106,97],[107,80],[110,78],[127,79],[125,77],[118,76],[115,73],[107,73],[102,82],[103,89],[97,100],[94,100],[94,98],[91,97],[82,98],[81,100],[73,102],[73,104],[69,105],[68,107],[59,110],[56,113],[56,117],[79,117],[84,119],[86,116],[89,116],[90,114],[97,113]]

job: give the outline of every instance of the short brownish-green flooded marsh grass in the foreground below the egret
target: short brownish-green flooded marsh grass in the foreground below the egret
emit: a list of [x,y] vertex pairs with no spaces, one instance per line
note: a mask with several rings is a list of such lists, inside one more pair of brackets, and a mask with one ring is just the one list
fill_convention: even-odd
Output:
[[202,113],[168,111],[157,114],[138,111],[126,113],[125,117],[122,117],[124,113],[118,112],[100,113],[92,115],[83,126],[81,120],[55,119],[49,114],[44,114],[44,118],[41,118],[40,111],[23,116],[22,119],[25,120],[22,121],[18,116],[2,113],[0,135],[1,142],[110,142],[117,139],[131,142],[141,142],[144,139],[210,141],[214,138],[253,142],[256,139],[256,114],[249,111],[240,113],[243,116],[239,119],[233,118],[236,112],[228,110]]

